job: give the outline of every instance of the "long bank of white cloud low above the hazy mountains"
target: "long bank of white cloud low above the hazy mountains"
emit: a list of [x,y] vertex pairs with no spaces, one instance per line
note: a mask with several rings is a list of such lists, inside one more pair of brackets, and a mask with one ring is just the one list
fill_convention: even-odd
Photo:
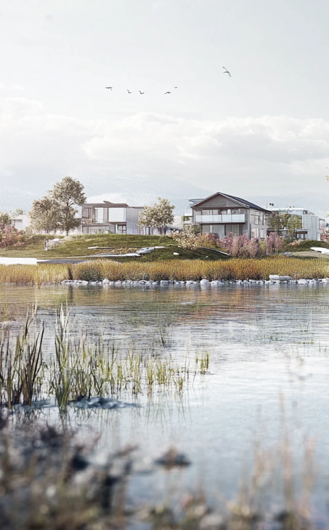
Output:
[[50,114],[39,101],[3,98],[0,136],[2,164],[10,171],[37,163],[65,174],[144,175],[154,186],[172,178],[245,195],[296,185],[327,189],[329,122],[322,119],[196,120],[138,112],[81,120]]

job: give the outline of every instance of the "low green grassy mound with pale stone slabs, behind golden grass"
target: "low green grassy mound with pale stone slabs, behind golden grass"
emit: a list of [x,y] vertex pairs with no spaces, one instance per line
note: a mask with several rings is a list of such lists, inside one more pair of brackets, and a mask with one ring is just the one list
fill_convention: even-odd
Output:
[[[49,236],[51,239],[54,236]],[[168,236],[153,235],[124,235],[124,234],[93,234],[78,235],[62,238],[62,242],[57,248],[45,251],[45,235],[32,235],[20,248],[12,248],[0,252],[1,256],[8,258],[77,258],[98,253],[106,253],[107,249],[90,249],[92,246],[106,247],[113,251],[133,252],[145,246],[166,246],[165,249],[157,249],[150,254],[145,254],[140,258],[115,258],[116,261],[138,260],[138,261],[159,261],[163,259],[223,259],[223,256],[215,251],[197,249],[184,250],[178,249],[175,241]],[[174,255],[177,251],[179,255]]]

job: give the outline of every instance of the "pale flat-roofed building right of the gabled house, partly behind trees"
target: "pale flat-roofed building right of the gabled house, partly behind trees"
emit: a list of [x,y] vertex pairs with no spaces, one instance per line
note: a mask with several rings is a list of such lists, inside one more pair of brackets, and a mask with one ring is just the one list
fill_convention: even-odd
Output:
[[[289,214],[300,218],[300,228],[295,229],[297,239],[308,239],[312,241],[321,240],[321,233],[323,227],[326,224],[325,219],[321,219],[320,217],[312,214],[305,208],[298,208],[295,206],[287,206],[282,208],[270,207],[269,210],[271,211],[271,213]],[[268,232],[273,232],[273,230],[268,229]],[[285,233],[287,233],[288,231],[286,228],[284,228],[280,232],[282,233],[282,235],[285,235]]]

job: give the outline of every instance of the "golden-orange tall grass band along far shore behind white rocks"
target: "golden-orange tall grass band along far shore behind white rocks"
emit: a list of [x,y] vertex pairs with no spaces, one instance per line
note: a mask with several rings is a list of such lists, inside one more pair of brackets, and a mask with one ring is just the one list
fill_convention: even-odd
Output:
[[161,260],[153,262],[117,263],[94,260],[70,265],[42,264],[39,266],[0,266],[0,284],[44,285],[62,280],[99,281],[117,280],[267,280],[270,274],[291,276],[294,279],[327,278],[326,260],[273,257],[261,260],[231,259]]

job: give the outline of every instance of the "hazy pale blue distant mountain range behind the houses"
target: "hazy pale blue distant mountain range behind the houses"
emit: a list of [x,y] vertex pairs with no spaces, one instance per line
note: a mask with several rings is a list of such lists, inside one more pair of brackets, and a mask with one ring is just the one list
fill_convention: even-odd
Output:
[[[12,179],[12,185],[0,184],[0,211],[10,211],[15,208],[22,208],[29,210],[32,201],[39,198],[52,187],[52,184],[60,177],[52,176],[50,179],[38,179],[38,175],[34,173],[33,179],[20,179],[19,182]],[[6,179],[8,182],[9,179]],[[166,197],[173,204],[175,204],[175,214],[182,215],[189,209],[188,199],[203,198],[212,195],[215,191],[223,191],[238,197],[248,199],[255,204],[262,207],[267,207],[269,202],[273,202],[275,206],[300,206],[307,210],[313,211],[320,217],[326,216],[327,208],[329,207],[329,184],[328,192],[296,192],[285,195],[246,195],[240,193],[236,189],[218,189],[206,190],[202,187],[182,182],[179,180],[165,179],[154,181],[151,178],[143,178],[140,176],[122,178],[107,177],[107,176],[88,176],[80,179],[85,184],[85,192],[88,199],[93,200],[110,200],[112,202],[125,201],[131,206],[144,206],[152,204],[157,197]],[[34,182],[33,185],[26,185],[27,182]]]

